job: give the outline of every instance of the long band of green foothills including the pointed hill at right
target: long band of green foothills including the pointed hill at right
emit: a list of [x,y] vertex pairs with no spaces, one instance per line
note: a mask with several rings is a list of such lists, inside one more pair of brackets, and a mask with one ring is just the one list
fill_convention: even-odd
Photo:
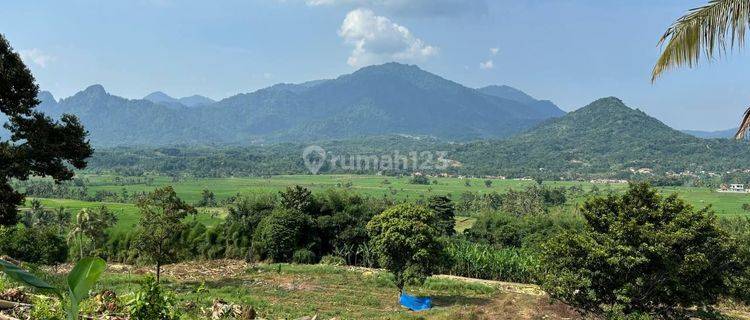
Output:
[[[725,173],[750,168],[748,142],[688,135],[614,97],[598,99],[506,139],[458,143],[385,135],[314,144],[329,155],[344,157],[391,155],[396,150],[420,155],[444,151],[452,160],[447,172],[478,176],[630,179],[673,172],[685,173],[690,179],[688,172]],[[97,150],[90,164],[93,169],[168,174],[188,171],[197,176],[309,173],[300,157],[309,145],[104,148]],[[373,170],[377,171],[361,172]],[[320,172],[351,173],[328,166]]]

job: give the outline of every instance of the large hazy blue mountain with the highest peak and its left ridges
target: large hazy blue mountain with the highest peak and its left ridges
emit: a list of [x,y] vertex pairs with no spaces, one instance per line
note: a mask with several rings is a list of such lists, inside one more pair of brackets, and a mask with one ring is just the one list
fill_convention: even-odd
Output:
[[549,102],[484,94],[398,63],[331,80],[278,84],[215,103],[192,98],[155,92],[129,100],[94,85],[59,102],[44,99],[42,109],[78,115],[98,146],[247,145],[391,134],[467,141],[505,138],[564,114]]

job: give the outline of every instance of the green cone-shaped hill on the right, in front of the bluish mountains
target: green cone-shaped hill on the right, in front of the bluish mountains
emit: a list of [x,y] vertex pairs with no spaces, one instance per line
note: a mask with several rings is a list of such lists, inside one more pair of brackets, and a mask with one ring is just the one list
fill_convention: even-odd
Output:
[[617,98],[603,98],[505,141],[458,149],[466,167],[514,176],[750,167],[750,145],[704,140],[674,130]]

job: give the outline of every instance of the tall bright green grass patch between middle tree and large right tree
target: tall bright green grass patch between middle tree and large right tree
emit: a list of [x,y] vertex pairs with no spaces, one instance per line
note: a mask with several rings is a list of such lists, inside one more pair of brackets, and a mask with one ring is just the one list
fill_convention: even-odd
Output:
[[465,240],[446,246],[450,262],[443,273],[462,277],[508,282],[534,283],[539,266],[530,250],[495,248]]

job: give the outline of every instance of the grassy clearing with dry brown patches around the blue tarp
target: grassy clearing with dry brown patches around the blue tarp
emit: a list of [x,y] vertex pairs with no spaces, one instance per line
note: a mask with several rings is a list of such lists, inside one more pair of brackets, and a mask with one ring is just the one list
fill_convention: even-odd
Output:
[[[184,275],[196,267],[168,266],[166,271]],[[195,302],[198,310],[209,308],[212,299],[222,299],[251,305],[267,319],[316,314],[319,319],[561,319],[571,315],[563,305],[550,305],[548,298],[536,290],[514,293],[494,283],[431,278],[423,286],[408,288],[408,292],[430,296],[434,301],[434,309],[415,313],[399,306],[390,274],[377,270],[275,264],[251,266],[235,274],[225,272],[200,280],[168,276],[167,283],[179,300]],[[138,273],[109,273],[99,287],[113,289],[127,300],[143,277]],[[208,291],[196,293],[202,283]],[[198,312],[187,312],[187,318],[202,319]]]

